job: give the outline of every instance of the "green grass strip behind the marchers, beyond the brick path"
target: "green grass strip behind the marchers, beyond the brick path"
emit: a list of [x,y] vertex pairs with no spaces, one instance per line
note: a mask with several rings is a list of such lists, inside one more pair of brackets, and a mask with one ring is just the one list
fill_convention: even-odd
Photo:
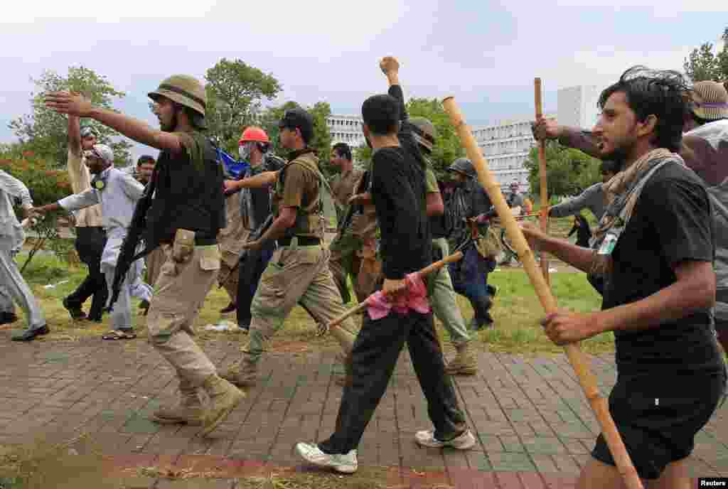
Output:
[[[17,257],[19,263],[23,263],[24,259],[23,254]],[[69,266],[68,263],[60,261],[52,255],[40,255],[33,258],[30,266],[25,270],[25,279],[31,285],[36,298],[41,302],[47,322],[51,327],[51,334],[39,338],[40,341],[75,341],[84,336],[101,335],[111,327],[108,316],[104,317],[101,325],[73,322],[68,317],[66,309],[63,309],[61,300],[82,282],[85,274],[84,266]],[[55,285],[63,280],[68,280],[68,282],[52,288],[44,288],[44,285]],[[473,333],[477,336],[483,349],[519,354],[547,354],[562,351],[561,347],[555,346],[548,340],[539,325],[539,319],[544,316],[544,313],[523,269],[500,269],[500,271],[491,273],[488,281],[498,287],[498,295],[491,310],[496,325],[494,328]],[[584,274],[554,273],[551,274],[551,282],[559,307],[581,312],[599,309],[601,297],[589,285]],[[135,304],[138,303],[136,300],[133,301]],[[215,332],[204,329],[205,325],[214,324],[221,319],[218,311],[228,302],[227,294],[218,287],[214,287],[207,295],[205,306],[200,311],[197,320],[197,338],[200,341],[246,340],[247,336],[242,333]],[[470,303],[462,296],[458,296],[458,304],[464,319],[466,322],[470,322],[473,314]],[[353,307],[355,303],[350,303],[348,306]],[[22,314],[22,310],[18,309],[18,313]],[[235,322],[234,314],[226,315],[225,319]],[[145,338],[145,318],[135,316],[134,320],[138,335],[140,338]],[[360,324],[360,317],[355,317],[355,323]],[[436,324],[440,338],[447,346],[448,335],[439,322]],[[14,326],[23,327],[23,320],[21,319]],[[337,343],[331,338],[331,335],[319,337],[315,334],[313,319],[300,307],[293,309],[285,322],[285,327],[274,337],[269,346],[272,351],[289,353],[304,353],[320,348],[336,349],[336,347]],[[585,341],[583,348],[592,352],[613,351],[613,335],[607,333]]]

